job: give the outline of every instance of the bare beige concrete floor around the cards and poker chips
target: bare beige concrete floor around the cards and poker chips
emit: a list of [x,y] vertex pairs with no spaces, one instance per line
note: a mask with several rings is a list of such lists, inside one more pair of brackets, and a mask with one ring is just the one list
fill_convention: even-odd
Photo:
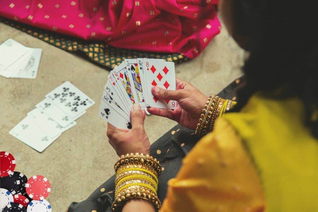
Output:
[[[43,49],[36,79],[0,76],[0,150],[15,156],[16,171],[27,177],[46,176],[52,185],[47,200],[53,211],[65,211],[71,202],[86,199],[114,174],[117,156],[107,142],[107,123],[97,115],[109,71],[2,23],[0,32],[0,43],[13,38],[27,47]],[[223,28],[196,59],[176,65],[176,76],[189,81],[206,95],[218,93],[242,75],[243,57],[243,50]],[[66,80],[96,102],[76,120],[75,127],[42,153],[8,133],[45,98],[45,94]],[[175,124],[168,119],[147,116],[145,128],[150,141],[154,142]]]

